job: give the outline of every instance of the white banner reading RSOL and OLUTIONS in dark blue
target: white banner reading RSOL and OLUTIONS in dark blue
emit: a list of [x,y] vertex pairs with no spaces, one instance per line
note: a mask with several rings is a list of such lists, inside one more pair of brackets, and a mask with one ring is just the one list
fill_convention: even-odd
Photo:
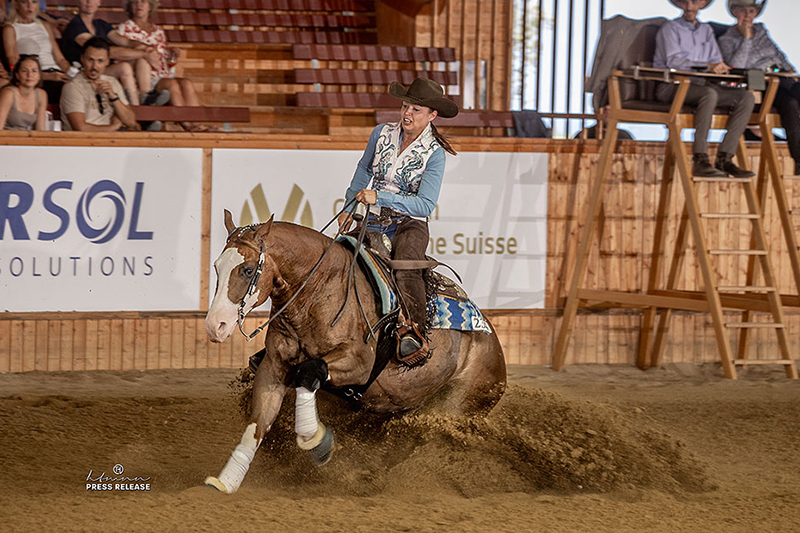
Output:
[[0,146],[0,310],[200,305],[202,150]]

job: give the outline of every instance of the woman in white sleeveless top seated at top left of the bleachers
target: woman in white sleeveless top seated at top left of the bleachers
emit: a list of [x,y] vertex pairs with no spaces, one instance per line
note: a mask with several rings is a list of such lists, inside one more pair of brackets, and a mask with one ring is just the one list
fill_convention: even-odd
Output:
[[51,102],[61,96],[61,87],[69,77],[69,63],[61,55],[50,26],[37,19],[39,4],[35,0],[13,0],[11,11],[3,26],[3,46],[8,64],[13,70],[20,54],[39,56],[42,68],[42,88]]

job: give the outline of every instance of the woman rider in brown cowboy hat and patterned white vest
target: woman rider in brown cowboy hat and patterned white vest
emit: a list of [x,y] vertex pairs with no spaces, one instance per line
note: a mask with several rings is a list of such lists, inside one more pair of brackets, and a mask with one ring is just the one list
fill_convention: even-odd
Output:
[[[439,200],[445,155],[456,155],[433,125],[437,116],[452,118],[458,106],[444,98],[441,85],[417,78],[406,90],[397,82],[389,94],[403,101],[400,121],[380,124],[372,130],[364,155],[358,162],[345,193],[368,206],[367,229],[386,235],[392,242],[392,259],[421,261],[428,247],[428,217]],[[372,188],[367,186],[372,180]],[[352,224],[349,213],[339,216],[339,230]],[[428,355],[425,335],[425,281],[422,270],[398,270],[397,288],[404,304],[401,319],[400,358],[424,360]]]

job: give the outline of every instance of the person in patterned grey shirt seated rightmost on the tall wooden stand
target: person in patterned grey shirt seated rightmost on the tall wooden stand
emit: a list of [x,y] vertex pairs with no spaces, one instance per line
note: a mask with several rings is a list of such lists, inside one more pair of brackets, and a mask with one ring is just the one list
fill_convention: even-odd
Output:
[[[736,25],[719,38],[722,57],[736,68],[794,72],[794,67],[770,39],[764,25],[754,23],[764,4],[766,0],[729,0],[728,10],[736,19]],[[797,79],[781,80],[775,95],[775,107],[786,129],[789,153],[794,159],[794,174],[800,175],[800,82]]]

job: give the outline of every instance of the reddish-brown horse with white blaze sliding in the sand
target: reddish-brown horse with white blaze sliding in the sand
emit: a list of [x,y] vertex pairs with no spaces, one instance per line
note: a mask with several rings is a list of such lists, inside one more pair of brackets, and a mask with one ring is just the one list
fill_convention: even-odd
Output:
[[225,210],[228,239],[214,263],[217,287],[206,315],[208,335],[212,342],[224,341],[268,298],[274,319],[253,380],[249,423],[219,476],[206,478],[207,486],[238,490],[292,387],[297,444],[317,465],[327,462],[333,449],[333,432],[319,421],[315,403],[323,386],[341,389],[372,380],[358,404],[375,413],[420,408],[435,398],[436,412],[476,416],[500,400],[506,367],[491,324],[489,333],[431,330],[432,356],[424,365],[407,368],[389,361],[377,378],[371,376],[378,349],[367,322],[376,324],[381,317],[377,306],[354,300],[343,306],[348,292],[355,298],[372,295],[366,275],[351,268],[352,251],[316,230],[273,218],[239,228]]

